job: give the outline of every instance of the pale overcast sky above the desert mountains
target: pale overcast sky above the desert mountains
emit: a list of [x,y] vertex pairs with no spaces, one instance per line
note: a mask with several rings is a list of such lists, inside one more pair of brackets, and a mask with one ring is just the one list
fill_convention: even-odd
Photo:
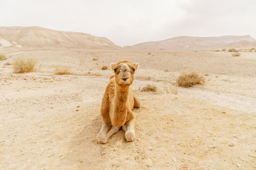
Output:
[[256,38],[256,0],[0,0],[0,26],[84,32],[120,46],[184,35]]

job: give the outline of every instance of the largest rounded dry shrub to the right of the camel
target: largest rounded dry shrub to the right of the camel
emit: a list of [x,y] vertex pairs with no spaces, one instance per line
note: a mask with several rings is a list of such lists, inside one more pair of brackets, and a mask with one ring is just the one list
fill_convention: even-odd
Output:
[[176,80],[181,87],[190,87],[195,84],[202,84],[205,82],[205,77],[196,72],[183,72]]

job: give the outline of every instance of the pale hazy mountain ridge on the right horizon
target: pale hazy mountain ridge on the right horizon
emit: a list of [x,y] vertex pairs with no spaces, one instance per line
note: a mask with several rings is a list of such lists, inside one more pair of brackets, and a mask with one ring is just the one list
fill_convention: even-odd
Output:
[[161,41],[143,42],[132,46],[124,46],[124,48],[134,50],[208,50],[241,40],[256,42],[250,35],[225,35],[220,37],[181,36]]

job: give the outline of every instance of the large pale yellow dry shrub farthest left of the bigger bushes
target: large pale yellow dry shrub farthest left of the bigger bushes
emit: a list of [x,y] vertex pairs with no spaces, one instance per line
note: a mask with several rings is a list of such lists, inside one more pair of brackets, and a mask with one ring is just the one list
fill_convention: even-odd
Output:
[[34,66],[36,65],[37,60],[32,57],[16,57],[13,60],[13,67],[15,73],[23,73],[23,72],[33,72]]

